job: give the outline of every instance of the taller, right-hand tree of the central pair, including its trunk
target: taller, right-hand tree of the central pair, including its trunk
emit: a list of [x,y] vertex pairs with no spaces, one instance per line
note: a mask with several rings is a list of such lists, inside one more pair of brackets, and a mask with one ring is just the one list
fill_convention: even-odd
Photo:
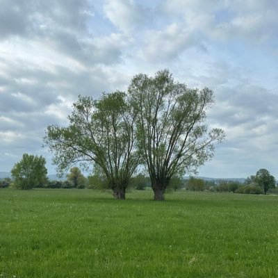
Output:
[[134,76],[129,97],[138,113],[138,149],[149,171],[154,199],[163,200],[170,179],[195,172],[213,156],[215,143],[224,139],[224,131],[209,130],[204,124],[213,92],[187,88],[163,70],[154,77]]

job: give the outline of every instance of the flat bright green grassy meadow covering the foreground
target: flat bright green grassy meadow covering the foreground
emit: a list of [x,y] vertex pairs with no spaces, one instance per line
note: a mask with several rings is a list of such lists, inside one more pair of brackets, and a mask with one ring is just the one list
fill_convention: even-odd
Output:
[[278,277],[278,197],[0,190],[3,277]]

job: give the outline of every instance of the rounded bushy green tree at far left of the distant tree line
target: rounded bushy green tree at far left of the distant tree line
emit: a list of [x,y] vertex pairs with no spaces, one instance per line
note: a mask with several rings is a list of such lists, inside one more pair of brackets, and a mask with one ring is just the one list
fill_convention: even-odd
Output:
[[46,160],[42,156],[23,154],[22,160],[15,163],[11,174],[14,185],[20,189],[41,187],[47,181]]

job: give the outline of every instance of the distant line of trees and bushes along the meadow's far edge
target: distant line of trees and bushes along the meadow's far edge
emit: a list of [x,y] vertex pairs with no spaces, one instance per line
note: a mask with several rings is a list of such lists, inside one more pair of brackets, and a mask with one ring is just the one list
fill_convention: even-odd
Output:
[[[33,156],[24,154],[22,160],[15,163],[12,170],[13,179],[6,178],[0,180],[0,188],[8,188],[13,184],[15,188],[90,188],[90,189],[111,189],[103,172],[97,168],[94,174],[85,178],[79,167],[70,168],[66,181],[55,181],[47,179],[47,169],[45,168],[45,159],[42,156]],[[145,174],[137,174],[131,177],[130,188],[136,190],[145,190],[152,186],[150,177]],[[236,181],[205,181],[196,177],[188,179],[182,177],[173,177],[170,181],[167,191],[171,190],[193,190],[193,191],[212,191],[212,192],[230,192],[244,194],[266,194],[268,191],[278,193],[275,177],[268,170],[260,169],[255,175],[247,177],[245,183]]]

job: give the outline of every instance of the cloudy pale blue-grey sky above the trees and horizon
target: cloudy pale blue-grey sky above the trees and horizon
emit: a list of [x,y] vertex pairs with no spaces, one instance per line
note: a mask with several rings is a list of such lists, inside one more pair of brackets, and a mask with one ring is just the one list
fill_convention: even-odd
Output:
[[215,94],[207,124],[226,140],[199,175],[278,178],[277,13],[277,0],[0,0],[0,172],[28,153],[54,174],[42,138],[78,95],[168,68]]

